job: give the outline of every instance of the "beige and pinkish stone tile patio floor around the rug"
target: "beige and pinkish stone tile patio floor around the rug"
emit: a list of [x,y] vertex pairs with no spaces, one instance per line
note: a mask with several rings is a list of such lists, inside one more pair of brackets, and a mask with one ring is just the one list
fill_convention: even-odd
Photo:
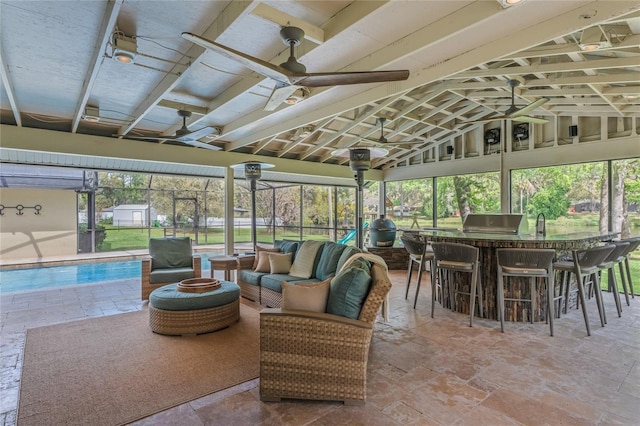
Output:
[[[555,337],[544,323],[507,323],[502,334],[497,321],[470,328],[467,316],[439,305],[431,318],[425,284],[414,310],[404,299],[406,273],[391,276],[391,316],[376,324],[366,405],[262,403],[256,379],[136,424],[640,424],[640,297],[618,318],[605,293],[604,328],[588,301],[591,337],[579,310],[556,320]],[[1,424],[16,423],[27,328],[147,309],[139,294],[139,280],[126,280],[1,295]]]

